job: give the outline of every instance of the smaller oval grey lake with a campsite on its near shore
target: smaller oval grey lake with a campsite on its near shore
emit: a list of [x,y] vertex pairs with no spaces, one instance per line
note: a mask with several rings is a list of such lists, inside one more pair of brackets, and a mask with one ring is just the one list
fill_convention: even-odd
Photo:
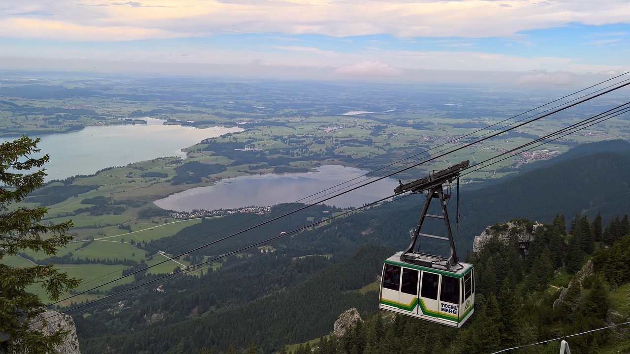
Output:
[[[221,180],[213,186],[193,188],[176,193],[168,198],[156,200],[158,207],[179,212],[195,209],[217,210],[241,207],[267,207],[279,203],[301,202],[311,204],[324,195],[338,192],[325,191],[346,181],[343,190],[353,188],[354,183],[367,181],[367,171],[339,165],[319,166],[317,171],[307,173],[258,174]],[[356,180],[355,180],[356,178]],[[360,207],[392,195],[398,181],[392,178],[377,181],[358,190],[326,201],[324,204],[337,207]],[[321,192],[321,193],[320,193]]]

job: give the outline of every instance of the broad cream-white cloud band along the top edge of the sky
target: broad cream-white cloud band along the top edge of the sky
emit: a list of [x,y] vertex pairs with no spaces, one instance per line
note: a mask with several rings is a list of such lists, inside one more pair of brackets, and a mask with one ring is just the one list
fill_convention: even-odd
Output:
[[[127,40],[108,28],[130,28],[151,38],[204,37],[215,33],[318,34],[333,37],[389,34],[396,37],[497,37],[570,23],[627,23],[630,2],[573,1],[217,1],[217,0],[5,0],[0,21],[38,17],[60,23],[37,31],[33,23],[12,21],[20,38]],[[506,6],[509,5],[509,6]],[[38,16],[43,15],[45,16]],[[491,24],[491,25],[488,25]],[[113,33],[112,33],[113,32]],[[5,33],[3,33],[4,35]],[[614,33],[617,35],[617,33]]]

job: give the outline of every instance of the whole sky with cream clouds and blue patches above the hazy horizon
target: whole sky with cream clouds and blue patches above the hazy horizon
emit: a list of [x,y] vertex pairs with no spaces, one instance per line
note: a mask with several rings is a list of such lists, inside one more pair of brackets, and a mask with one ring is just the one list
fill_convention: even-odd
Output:
[[630,71],[627,0],[3,0],[0,70],[571,86]]

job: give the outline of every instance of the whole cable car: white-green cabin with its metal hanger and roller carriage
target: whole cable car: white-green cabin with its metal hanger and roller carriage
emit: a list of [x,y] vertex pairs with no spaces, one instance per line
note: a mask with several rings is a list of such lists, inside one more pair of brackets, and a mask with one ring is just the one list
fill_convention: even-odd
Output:
[[[457,328],[473,314],[473,265],[460,262],[457,258],[446,208],[450,195],[445,194],[442,187],[445,183],[451,183],[455,178],[459,178],[460,171],[469,166],[468,161],[463,161],[420,180],[406,184],[401,182],[394,190],[397,195],[408,191],[422,193],[426,190],[427,198],[418,226],[411,231],[410,246],[384,262],[380,309]],[[459,191],[459,183],[457,185]],[[442,215],[427,214],[433,198],[440,200]],[[447,236],[421,233],[421,227],[427,217],[443,219]],[[449,258],[413,251],[418,236],[449,241]]]

